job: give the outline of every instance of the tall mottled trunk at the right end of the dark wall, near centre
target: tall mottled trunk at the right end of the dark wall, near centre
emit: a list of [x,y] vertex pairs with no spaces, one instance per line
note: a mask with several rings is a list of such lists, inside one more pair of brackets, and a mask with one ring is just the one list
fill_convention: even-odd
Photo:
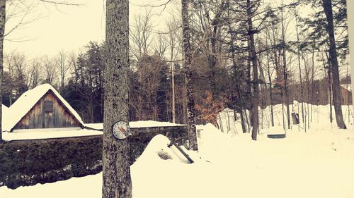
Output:
[[188,22],[188,0],[182,0],[182,30],[183,30],[183,52],[184,52],[184,70],[187,95],[188,110],[188,139],[189,146],[192,150],[198,150],[197,132],[195,128],[195,106],[194,106],[194,90],[193,90],[193,72],[192,53],[190,51],[190,28]]

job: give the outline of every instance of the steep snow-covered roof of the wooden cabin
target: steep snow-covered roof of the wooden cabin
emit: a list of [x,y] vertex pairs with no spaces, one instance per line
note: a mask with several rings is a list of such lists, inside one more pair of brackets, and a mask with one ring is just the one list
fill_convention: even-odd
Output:
[[27,92],[23,93],[21,97],[19,97],[16,102],[11,105],[7,112],[3,112],[4,122],[3,122],[3,131],[11,131],[12,128],[18,123],[18,121],[25,116],[30,109],[49,91],[51,90],[55,96],[59,99],[59,101],[64,104],[64,106],[72,113],[72,115],[84,125],[84,122],[81,120],[79,113],[77,113],[72,106],[70,106],[67,101],[55,90],[52,85],[43,84],[35,87],[33,89],[28,90]]

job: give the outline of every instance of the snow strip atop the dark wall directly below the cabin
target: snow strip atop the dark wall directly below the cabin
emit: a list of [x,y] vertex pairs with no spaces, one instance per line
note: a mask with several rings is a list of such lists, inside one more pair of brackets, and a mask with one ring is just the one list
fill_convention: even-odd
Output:
[[103,135],[102,131],[98,130],[23,130],[21,132],[2,132],[3,140],[40,140],[40,139],[53,139],[62,137],[82,137],[91,135]]

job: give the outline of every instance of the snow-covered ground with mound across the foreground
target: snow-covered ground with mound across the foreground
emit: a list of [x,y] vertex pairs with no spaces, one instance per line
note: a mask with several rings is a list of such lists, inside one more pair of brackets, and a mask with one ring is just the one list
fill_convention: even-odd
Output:
[[[264,129],[258,141],[200,125],[200,151],[189,152],[192,164],[158,135],[131,166],[133,197],[354,197],[353,125],[339,130],[319,121],[306,133],[293,126],[284,139],[269,139]],[[172,159],[160,159],[162,150]],[[97,198],[101,183],[99,173],[16,190],[0,187],[0,197]]]

